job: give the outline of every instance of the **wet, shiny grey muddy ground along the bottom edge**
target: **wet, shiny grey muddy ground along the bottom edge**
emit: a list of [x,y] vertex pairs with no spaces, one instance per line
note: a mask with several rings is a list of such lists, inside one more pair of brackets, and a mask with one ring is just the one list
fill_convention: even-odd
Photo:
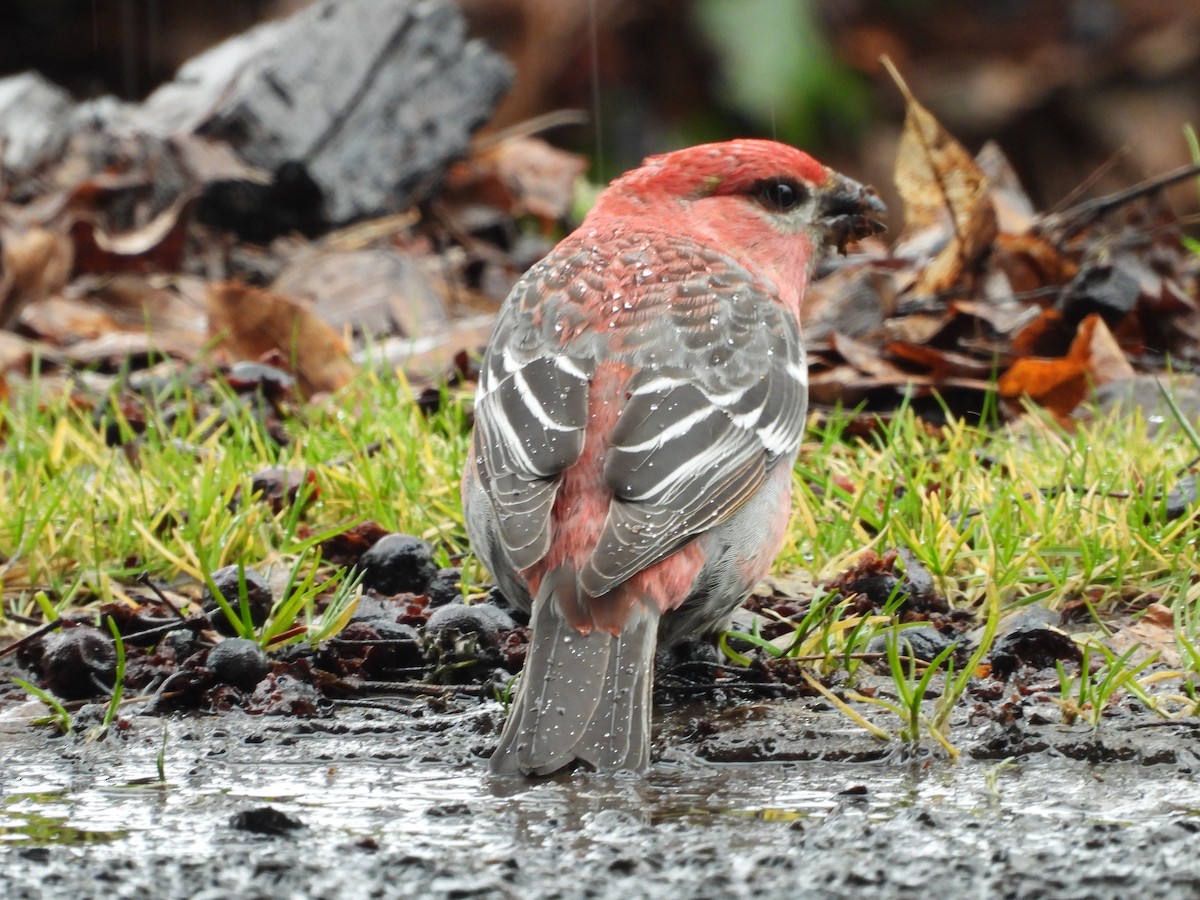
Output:
[[[644,778],[496,779],[491,701],[0,724],[18,898],[1170,898],[1200,889],[1200,721],[1027,718],[907,752],[812,701],[656,714]],[[166,734],[166,740],[163,739]],[[164,782],[158,780],[162,751]]]

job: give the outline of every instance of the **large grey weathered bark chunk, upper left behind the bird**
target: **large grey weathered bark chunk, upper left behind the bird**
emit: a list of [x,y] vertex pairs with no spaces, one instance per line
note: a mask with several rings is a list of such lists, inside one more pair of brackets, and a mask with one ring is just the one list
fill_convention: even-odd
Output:
[[324,0],[191,60],[138,119],[304,163],[337,223],[427,197],[509,78],[446,0]]

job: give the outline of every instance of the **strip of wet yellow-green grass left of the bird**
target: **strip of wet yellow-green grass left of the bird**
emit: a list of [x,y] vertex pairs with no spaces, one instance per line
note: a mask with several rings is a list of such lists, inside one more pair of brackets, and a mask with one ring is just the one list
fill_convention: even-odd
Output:
[[[283,446],[252,403],[220,386],[203,400],[169,390],[139,415],[134,428],[119,398],[36,383],[0,406],[6,614],[125,599],[142,572],[204,583],[236,563],[290,571],[366,520],[431,540],[443,562],[466,550],[456,400],[425,415],[404,385],[364,378],[336,402],[296,409]],[[263,502],[254,479],[272,468],[307,473],[295,502]]]

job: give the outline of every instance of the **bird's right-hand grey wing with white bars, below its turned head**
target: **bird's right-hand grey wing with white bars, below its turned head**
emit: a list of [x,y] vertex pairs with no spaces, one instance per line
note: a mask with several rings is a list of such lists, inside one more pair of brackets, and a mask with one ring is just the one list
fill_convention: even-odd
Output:
[[804,431],[796,319],[724,254],[684,242],[674,253],[646,268],[636,313],[610,340],[636,373],[605,463],[614,497],[580,574],[593,596],[728,520]]

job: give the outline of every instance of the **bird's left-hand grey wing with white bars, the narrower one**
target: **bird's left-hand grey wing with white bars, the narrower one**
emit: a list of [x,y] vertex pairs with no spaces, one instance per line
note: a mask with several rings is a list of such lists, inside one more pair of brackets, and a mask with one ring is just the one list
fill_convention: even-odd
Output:
[[550,550],[560,475],[583,451],[594,354],[587,342],[564,347],[564,329],[584,330],[580,299],[571,295],[576,256],[550,257],[517,282],[479,376],[475,466],[518,571]]

